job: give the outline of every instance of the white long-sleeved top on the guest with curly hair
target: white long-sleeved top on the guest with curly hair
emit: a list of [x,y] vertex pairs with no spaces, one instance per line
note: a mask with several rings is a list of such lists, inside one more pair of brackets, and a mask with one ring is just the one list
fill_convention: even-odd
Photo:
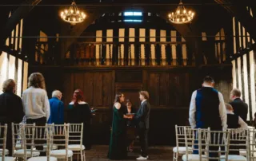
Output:
[[26,119],[50,117],[50,103],[47,93],[42,88],[27,88],[22,94],[22,103]]

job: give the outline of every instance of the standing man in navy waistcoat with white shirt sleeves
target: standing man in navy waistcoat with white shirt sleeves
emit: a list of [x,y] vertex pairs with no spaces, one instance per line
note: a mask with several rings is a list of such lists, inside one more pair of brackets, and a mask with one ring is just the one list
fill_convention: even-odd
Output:
[[[205,77],[202,88],[193,92],[190,102],[190,126],[191,128],[210,128],[220,131],[226,128],[226,107],[221,92],[214,89],[214,79]],[[195,146],[197,149],[198,147]],[[210,147],[212,151],[218,151],[218,147]],[[194,151],[198,154],[198,151]],[[209,153],[210,157],[218,156],[218,153]]]

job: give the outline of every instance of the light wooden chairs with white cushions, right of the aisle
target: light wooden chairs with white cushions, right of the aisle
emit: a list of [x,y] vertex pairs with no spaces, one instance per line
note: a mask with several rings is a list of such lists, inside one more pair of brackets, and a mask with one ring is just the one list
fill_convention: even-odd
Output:
[[210,128],[193,129],[176,125],[175,131],[174,161],[178,161],[180,155],[182,155],[184,161],[206,161],[209,159],[222,161],[256,160],[256,130],[253,127],[211,131]]

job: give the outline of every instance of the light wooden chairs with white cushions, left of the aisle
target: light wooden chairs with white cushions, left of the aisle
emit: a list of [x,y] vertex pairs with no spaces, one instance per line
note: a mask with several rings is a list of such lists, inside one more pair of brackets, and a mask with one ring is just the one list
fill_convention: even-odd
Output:
[[86,160],[83,124],[12,124],[12,157],[6,149],[7,125],[0,125],[0,161]]

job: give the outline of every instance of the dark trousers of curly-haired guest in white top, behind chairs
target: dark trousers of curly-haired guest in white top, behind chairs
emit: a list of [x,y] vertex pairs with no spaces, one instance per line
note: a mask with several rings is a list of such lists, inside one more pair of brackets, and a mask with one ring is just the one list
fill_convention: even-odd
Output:
[[[46,117],[42,117],[39,119],[27,119],[26,124],[35,124],[36,126],[46,126]],[[38,129],[38,134],[40,134],[40,130]],[[42,135],[44,132],[42,132]],[[38,136],[38,138],[42,138],[41,136]],[[42,140],[34,140],[35,144],[43,144],[44,141]],[[30,146],[27,146],[27,148],[30,148]],[[43,150],[42,146],[36,146],[38,150]]]

